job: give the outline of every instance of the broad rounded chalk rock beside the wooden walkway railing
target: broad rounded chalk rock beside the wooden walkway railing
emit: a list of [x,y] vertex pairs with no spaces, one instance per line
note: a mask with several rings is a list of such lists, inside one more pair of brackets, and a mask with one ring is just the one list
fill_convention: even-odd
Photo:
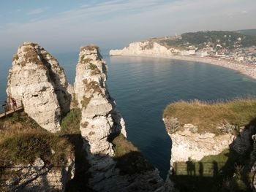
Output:
[[22,101],[24,111],[50,132],[60,130],[61,114],[71,95],[64,69],[44,48],[31,42],[18,47],[7,82],[7,96]]

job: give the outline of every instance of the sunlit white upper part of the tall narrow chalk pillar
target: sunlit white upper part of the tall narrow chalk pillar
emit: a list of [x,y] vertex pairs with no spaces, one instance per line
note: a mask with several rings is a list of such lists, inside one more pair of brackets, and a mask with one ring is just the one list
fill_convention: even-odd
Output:
[[126,136],[124,120],[116,111],[105,81],[107,66],[94,45],[81,47],[76,67],[75,98],[82,111],[80,131],[89,142],[91,154],[113,156],[110,134],[122,132]]

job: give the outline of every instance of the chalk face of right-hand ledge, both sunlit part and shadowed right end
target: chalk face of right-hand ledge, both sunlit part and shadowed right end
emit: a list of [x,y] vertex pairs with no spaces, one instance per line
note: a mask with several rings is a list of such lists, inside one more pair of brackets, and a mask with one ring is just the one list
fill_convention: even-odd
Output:
[[[200,161],[208,155],[218,155],[225,149],[232,149],[239,155],[249,150],[252,142],[252,134],[255,132],[254,126],[249,128],[240,127],[240,134],[233,134],[231,131],[223,134],[214,134],[211,132],[198,133],[197,126],[191,123],[178,126],[177,118],[164,118],[167,134],[172,139],[172,150],[170,158],[170,166],[175,162],[185,162],[189,158]],[[222,126],[232,126],[230,124],[222,124]],[[222,127],[216,127],[222,128]]]

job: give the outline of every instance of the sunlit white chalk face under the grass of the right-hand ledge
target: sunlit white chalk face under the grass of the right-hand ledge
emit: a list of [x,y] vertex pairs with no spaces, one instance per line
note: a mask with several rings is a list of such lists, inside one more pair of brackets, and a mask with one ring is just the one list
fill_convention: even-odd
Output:
[[203,157],[208,155],[217,155],[223,150],[229,148],[234,141],[233,134],[216,135],[213,133],[199,134],[193,131],[192,124],[185,124],[181,130],[176,132],[170,131],[170,124],[173,119],[164,119],[167,127],[167,134],[172,139],[172,150],[170,165],[180,161],[188,161],[192,158],[195,161],[200,161]]

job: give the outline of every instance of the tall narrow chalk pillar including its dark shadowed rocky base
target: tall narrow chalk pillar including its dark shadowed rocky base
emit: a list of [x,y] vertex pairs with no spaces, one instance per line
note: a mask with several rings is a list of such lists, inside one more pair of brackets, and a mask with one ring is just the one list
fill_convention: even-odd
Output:
[[[74,89],[82,112],[80,131],[91,166],[89,185],[95,191],[165,191],[157,169],[144,172],[138,169],[138,173],[132,174],[121,174],[118,169],[111,141],[120,134],[125,140],[126,131],[116,103],[108,93],[106,80],[107,66],[99,48],[95,45],[81,47]],[[128,162],[126,166],[130,166]],[[136,169],[140,165],[135,163],[134,166]]]

